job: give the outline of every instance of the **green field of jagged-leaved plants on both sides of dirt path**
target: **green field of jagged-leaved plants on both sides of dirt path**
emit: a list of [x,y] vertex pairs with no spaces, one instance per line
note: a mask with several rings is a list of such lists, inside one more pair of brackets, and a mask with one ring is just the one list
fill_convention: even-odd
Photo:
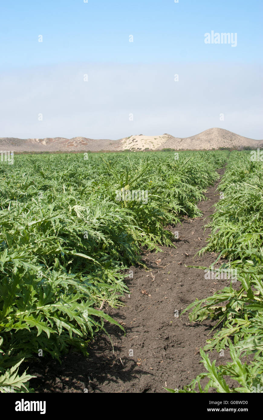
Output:
[[[206,250],[231,261],[240,289],[195,302],[189,317],[217,319],[205,350],[230,346],[236,363],[215,368],[202,353],[207,373],[179,392],[262,383],[262,163],[249,152],[189,151],[16,155],[0,164],[0,386],[30,391],[25,370],[39,349],[58,360],[72,347],[88,356],[105,320],[116,323],[101,305],[121,305],[142,249],[174,246],[166,226],[200,215],[197,202],[226,162]],[[244,352],[255,353],[250,365]]]

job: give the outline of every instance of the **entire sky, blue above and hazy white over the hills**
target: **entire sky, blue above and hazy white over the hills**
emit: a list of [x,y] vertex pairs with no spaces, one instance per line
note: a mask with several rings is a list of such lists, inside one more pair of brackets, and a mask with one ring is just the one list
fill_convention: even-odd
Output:
[[[0,137],[263,139],[262,12],[261,0],[1,2]],[[206,44],[212,31],[237,46]]]

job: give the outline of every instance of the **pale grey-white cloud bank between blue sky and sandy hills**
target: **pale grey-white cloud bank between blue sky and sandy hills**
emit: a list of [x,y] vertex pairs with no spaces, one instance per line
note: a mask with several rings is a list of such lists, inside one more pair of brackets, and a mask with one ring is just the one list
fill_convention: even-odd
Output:
[[221,127],[262,139],[261,74],[259,65],[229,63],[79,63],[13,71],[1,76],[0,136],[187,137]]

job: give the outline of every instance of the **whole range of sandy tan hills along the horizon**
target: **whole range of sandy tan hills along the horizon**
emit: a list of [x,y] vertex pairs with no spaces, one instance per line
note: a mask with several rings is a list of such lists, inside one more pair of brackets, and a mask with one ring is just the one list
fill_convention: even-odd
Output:
[[45,139],[17,139],[1,137],[0,150],[15,152],[71,152],[71,151],[100,151],[100,150],[175,150],[218,149],[219,147],[238,148],[243,146],[262,147],[263,140],[253,140],[231,131],[213,128],[187,138],[163,134],[161,136],[144,136],[143,134],[124,137],[119,140],[88,139],[86,137],[47,137]]

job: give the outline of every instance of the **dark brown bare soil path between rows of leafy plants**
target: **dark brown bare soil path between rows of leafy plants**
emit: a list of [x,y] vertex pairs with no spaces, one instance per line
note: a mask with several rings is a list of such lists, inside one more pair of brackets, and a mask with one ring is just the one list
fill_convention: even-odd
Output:
[[[219,173],[222,175],[224,170]],[[97,336],[90,346],[90,356],[68,354],[60,365],[51,360],[39,362],[30,369],[37,378],[31,386],[37,392],[167,392],[164,387],[182,388],[199,373],[200,347],[211,330],[210,321],[190,323],[188,314],[175,317],[196,298],[202,299],[229,285],[229,280],[205,280],[204,271],[187,265],[209,267],[215,254],[195,257],[205,246],[210,230],[204,232],[205,220],[213,213],[219,198],[218,184],[208,189],[207,201],[200,202],[201,218],[184,218],[182,224],[170,227],[179,232],[176,248],[144,255],[148,270],[131,267],[133,278],[127,278],[130,294],[123,298],[124,307],[103,308],[125,330],[107,325],[114,346],[106,335]],[[211,208],[212,207],[212,208]],[[220,264],[218,265],[220,266]],[[230,359],[213,352],[210,360],[226,363]],[[219,360],[220,359],[220,360]]]

